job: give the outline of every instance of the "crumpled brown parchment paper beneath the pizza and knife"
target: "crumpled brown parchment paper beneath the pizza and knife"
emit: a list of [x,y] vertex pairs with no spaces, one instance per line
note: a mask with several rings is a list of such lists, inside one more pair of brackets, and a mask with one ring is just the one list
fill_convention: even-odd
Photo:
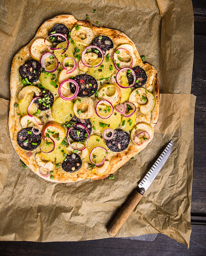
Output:
[[[109,222],[163,146],[173,139],[170,159],[118,237],[163,233],[189,245],[195,102],[190,95],[192,2],[13,0],[1,1],[0,13],[0,239],[51,242],[108,237]],[[99,21],[121,30],[159,71],[160,91],[165,94],[160,99],[155,137],[112,181],[46,182],[24,170],[10,143],[7,100],[12,59],[43,22],[59,14],[72,14],[80,20],[88,14],[93,24]]]

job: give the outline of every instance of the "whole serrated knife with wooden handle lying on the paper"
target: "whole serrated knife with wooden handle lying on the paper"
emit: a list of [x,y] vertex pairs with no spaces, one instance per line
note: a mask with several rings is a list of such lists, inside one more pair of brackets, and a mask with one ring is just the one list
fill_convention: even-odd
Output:
[[157,174],[160,172],[163,165],[165,165],[170,153],[172,152],[173,141],[171,140],[169,144],[166,146],[165,150],[161,153],[161,155],[157,158],[157,161],[152,165],[149,172],[145,175],[145,177],[141,180],[138,185],[138,188],[134,192],[134,194],[130,197],[128,202],[126,202],[125,206],[119,212],[114,221],[110,224],[107,232],[109,235],[114,237],[115,234],[119,231],[119,229],[123,226],[126,219],[130,216],[131,212],[134,210],[136,205],[139,203],[145,191],[148,190],[151,183],[155,180]]

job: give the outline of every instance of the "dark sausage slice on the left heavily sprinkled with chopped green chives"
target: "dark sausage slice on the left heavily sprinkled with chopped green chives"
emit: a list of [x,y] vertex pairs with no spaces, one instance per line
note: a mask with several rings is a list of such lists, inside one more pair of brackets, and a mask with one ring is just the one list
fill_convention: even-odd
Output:
[[[34,98],[35,97],[36,95],[34,95]],[[39,93],[39,97],[41,97],[42,99],[40,100],[36,99],[34,103],[38,105],[38,109],[41,111],[50,109],[54,104],[54,96],[49,90],[41,89],[41,92]]]

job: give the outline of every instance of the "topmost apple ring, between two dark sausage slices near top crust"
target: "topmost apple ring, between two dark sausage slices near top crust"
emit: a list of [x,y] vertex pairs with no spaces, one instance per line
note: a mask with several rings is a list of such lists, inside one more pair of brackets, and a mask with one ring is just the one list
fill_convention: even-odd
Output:
[[88,27],[76,25],[71,30],[71,39],[80,42],[83,45],[89,45],[94,37],[93,30]]

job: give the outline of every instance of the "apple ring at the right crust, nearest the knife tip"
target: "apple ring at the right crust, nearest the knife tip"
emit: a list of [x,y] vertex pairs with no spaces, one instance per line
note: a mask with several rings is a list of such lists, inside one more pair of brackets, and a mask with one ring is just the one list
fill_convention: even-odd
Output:
[[[135,137],[138,135],[139,138],[137,143]],[[154,130],[152,129],[152,127],[149,124],[146,124],[146,122],[140,122],[133,127],[130,137],[134,145],[141,146],[143,143],[151,141],[153,135]]]

